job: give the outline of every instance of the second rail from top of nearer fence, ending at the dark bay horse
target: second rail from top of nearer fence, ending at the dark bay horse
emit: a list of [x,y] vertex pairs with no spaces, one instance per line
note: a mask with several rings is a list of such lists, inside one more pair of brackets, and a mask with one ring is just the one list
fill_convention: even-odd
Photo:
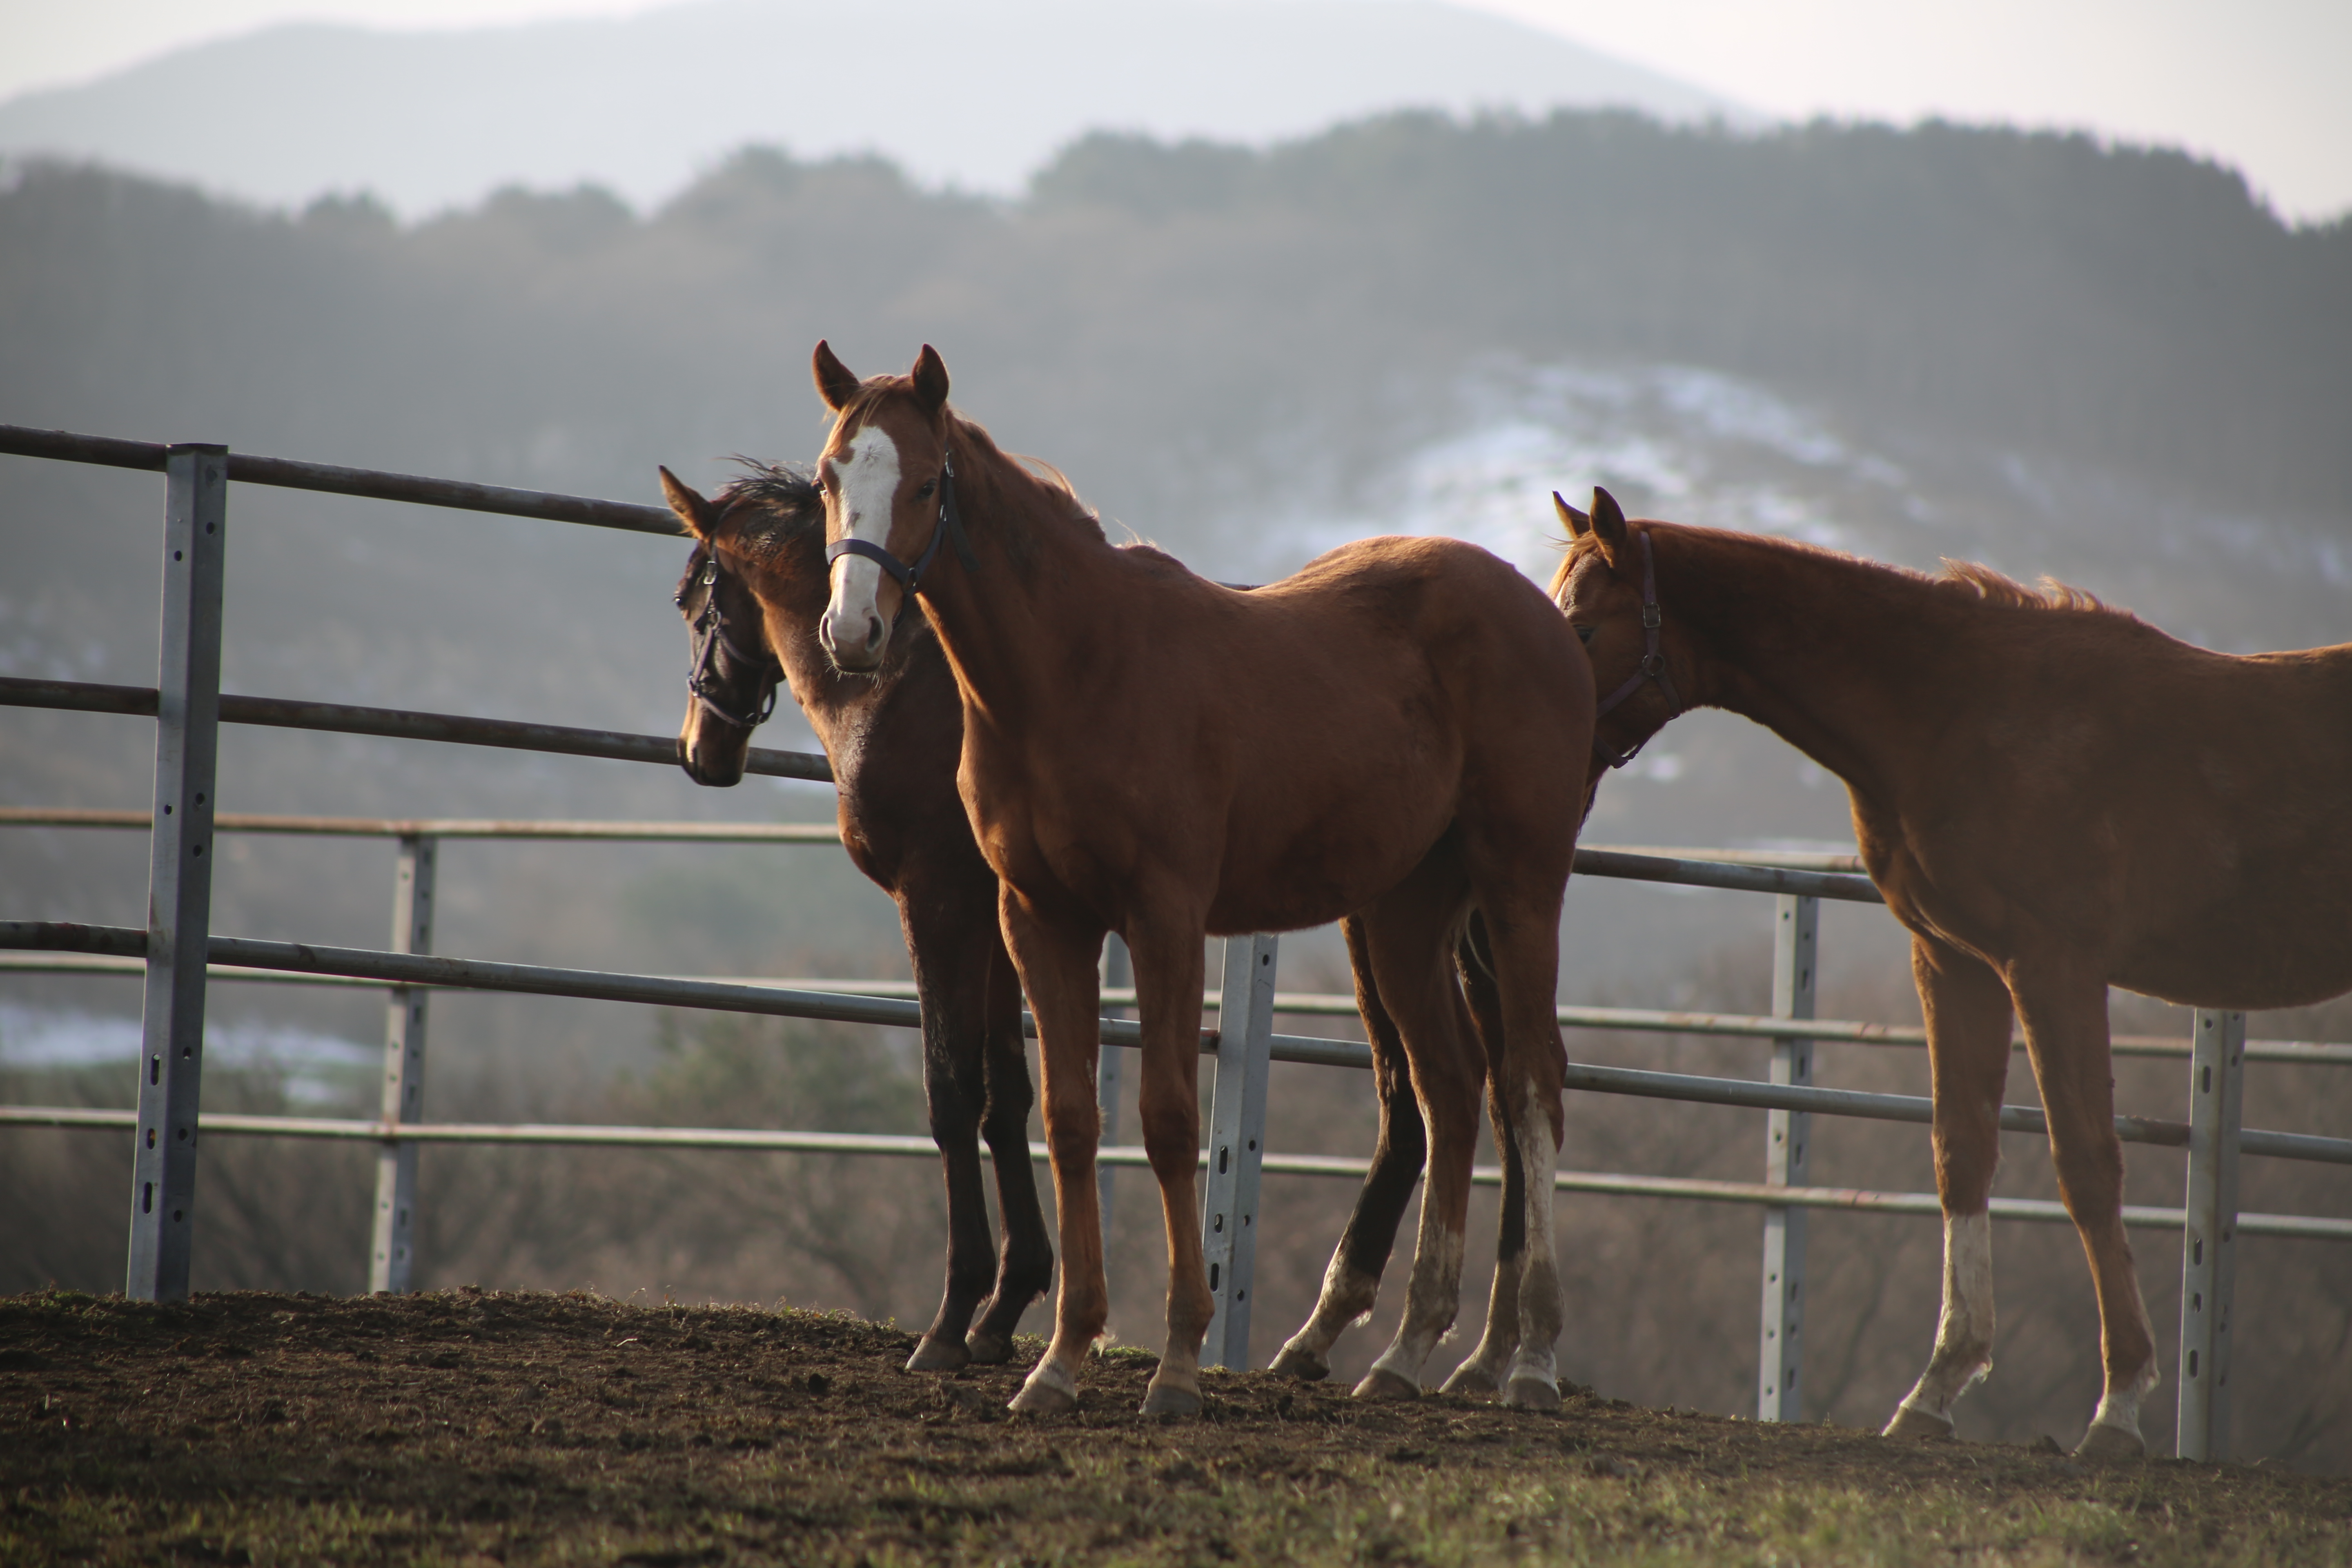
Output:
[[[125,712],[153,719],[155,689],[0,675],[0,708],[66,708],[75,712]],[[346,703],[294,703],[275,696],[221,693],[221,722],[266,724],[270,729],[320,729],[336,736],[388,736],[393,741],[499,745],[517,752],[550,752],[555,757],[604,757],[612,762],[656,762],[661,766],[677,766],[675,736],[630,736],[614,729],[522,724],[517,719],[473,719],[454,712],[350,708]],[[774,752],[753,748],[743,771],[762,773],[767,778],[833,783],[833,764],[826,762],[823,752]]]

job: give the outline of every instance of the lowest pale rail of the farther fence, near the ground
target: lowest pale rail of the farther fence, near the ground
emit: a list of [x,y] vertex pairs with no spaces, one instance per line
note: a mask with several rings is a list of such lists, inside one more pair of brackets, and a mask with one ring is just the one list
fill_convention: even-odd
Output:
[[[92,1110],[80,1105],[0,1105],[0,1126],[45,1126],[78,1131],[132,1131],[132,1110]],[[200,1133],[242,1138],[313,1138],[346,1143],[473,1143],[473,1145],[557,1145],[623,1150],[710,1150],[753,1154],[898,1154],[936,1159],[938,1145],[913,1133],[779,1133],[734,1126],[572,1126],[550,1121],[358,1121],[336,1117],[242,1117],[205,1112]],[[985,1157],[988,1152],[981,1150]],[[1033,1143],[1030,1159],[1044,1164],[1047,1145]],[[1202,1152],[1202,1164],[1209,1154]],[[1096,1164],[1150,1166],[1141,1147],[1103,1147]],[[1268,1154],[1268,1175],[1334,1175],[1362,1180],[1369,1159],[1338,1154]],[[1470,1180],[1482,1187],[1503,1182],[1501,1166],[1477,1166]],[[1689,1175],[1616,1175],[1602,1171],[1559,1171],[1559,1192],[1595,1192],[1606,1197],[1691,1199],[1703,1204],[1752,1204],[1764,1208],[1844,1208],[1851,1213],[1940,1213],[1933,1192],[1870,1192],[1863,1187],[1769,1187],[1764,1182],[1719,1182]],[[1992,1199],[1992,1218],[2070,1225],[2065,1204],[2049,1199]],[[2178,1208],[2129,1204],[2124,1225],[2143,1229],[2180,1229]],[[2251,1237],[2303,1237],[2352,1241],[2352,1220],[2312,1215],[2239,1215],[2239,1232]]]

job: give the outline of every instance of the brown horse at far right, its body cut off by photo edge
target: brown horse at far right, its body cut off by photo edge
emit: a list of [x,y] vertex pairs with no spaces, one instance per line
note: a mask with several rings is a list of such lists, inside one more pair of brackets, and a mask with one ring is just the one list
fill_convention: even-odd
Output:
[[[1557,496],[1555,496],[1557,501]],[[1943,1319],[1889,1436],[1947,1436],[1992,1368],[1987,1199],[2011,1018],[2098,1288],[2077,1453],[2145,1453],[2154,1338],[2124,1237],[2107,987],[2201,1009],[2352,987],[2352,646],[2232,658],[2084,592],[1922,576],[1752,534],[1625,522],[1606,491],[1552,597],[1609,698],[1599,759],[1726,708],[1846,780],[1912,936],[1936,1093]]]

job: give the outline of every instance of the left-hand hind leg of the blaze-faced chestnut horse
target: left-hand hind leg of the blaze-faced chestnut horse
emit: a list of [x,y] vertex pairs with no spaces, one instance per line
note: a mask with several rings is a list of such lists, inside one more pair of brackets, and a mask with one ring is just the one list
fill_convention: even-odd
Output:
[[1421,1368],[1461,1307],[1482,1081],[1477,1048],[1468,1039],[1470,1020],[1449,969],[1461,907],[1461,865],[1451,851],[1437,851],[1359,917],[1364,952],[1404,1039],[1414,1098],[1430,1138],[1404,1321],[1355,1387],[1359,1399],[1416,1399]]

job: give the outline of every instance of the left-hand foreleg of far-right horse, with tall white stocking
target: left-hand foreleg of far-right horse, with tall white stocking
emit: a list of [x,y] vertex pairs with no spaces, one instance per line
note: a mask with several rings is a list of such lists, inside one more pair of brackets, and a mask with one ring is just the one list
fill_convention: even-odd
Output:
[[1936,1194],[1943,1199],[1943,1316],[1926,1371],[1886,1436],[1952,1436],[1952,1401],[1992,1371],[1992,1173],[2009,1084],[2009,990],[1983,959],[1912,938],[1936,1095]]

